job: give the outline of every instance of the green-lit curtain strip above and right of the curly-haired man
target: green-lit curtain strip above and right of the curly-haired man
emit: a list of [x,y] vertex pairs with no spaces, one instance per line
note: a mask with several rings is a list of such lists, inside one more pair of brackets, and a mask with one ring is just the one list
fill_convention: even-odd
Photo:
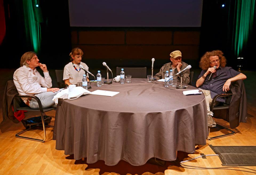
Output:
[[255,0],[236,0],[233,29],[234,55],[240,57],[253,32]]

